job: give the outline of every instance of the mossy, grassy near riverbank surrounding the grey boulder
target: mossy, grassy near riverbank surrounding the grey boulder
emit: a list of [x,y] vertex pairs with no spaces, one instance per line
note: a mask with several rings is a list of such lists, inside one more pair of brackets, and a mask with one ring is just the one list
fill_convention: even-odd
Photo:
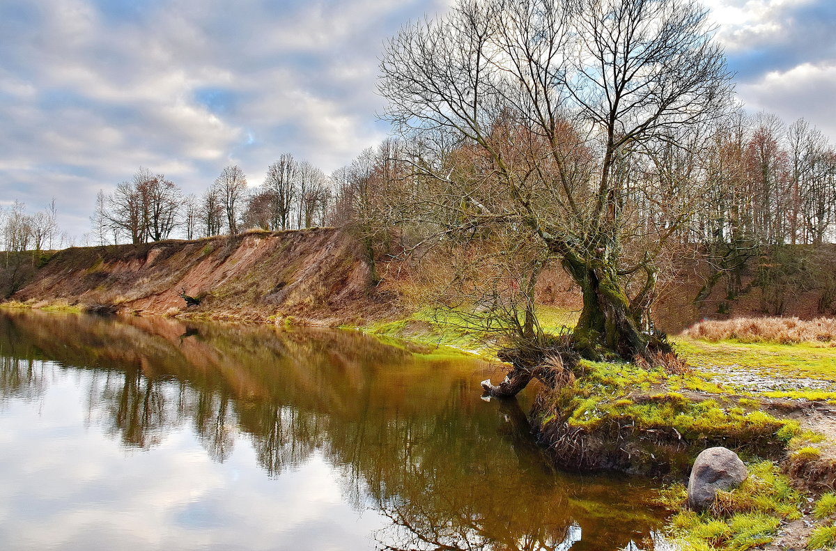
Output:
[[[532,422],[554,460],[663,477],[661,501],[679,512],[657,549],[831,548],[836,349],[685,338],[675,345],[689,369],[584,362],[563,389],[544,394]],[[710,446],[736,451],[749,478],[708,512],[691,513],[686,476]]]

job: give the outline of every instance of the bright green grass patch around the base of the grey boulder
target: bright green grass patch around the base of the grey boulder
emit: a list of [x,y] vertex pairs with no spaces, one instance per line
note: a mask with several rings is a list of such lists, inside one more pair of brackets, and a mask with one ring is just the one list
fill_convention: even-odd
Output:
[[[668,523],[671,543],[687,549],[744,551],[772,541],[782,519],[801,518],[803,497],[773,462],[749,465],[740,487],[717,492],[714,505],[704,513],[681,510]],[[686,507],[682,484],[660,493],[667,508]]]

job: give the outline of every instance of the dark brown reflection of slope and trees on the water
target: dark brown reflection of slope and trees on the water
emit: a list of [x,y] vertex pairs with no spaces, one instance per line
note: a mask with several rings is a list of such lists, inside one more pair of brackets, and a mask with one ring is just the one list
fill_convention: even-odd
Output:
[[324,457],[344,502],[381,518],[369,548],[614,550],[656,523],[643,487],[553,472],[516,400],[479,400],[473,360],[344,331],[38,312],[0,314],[0,354],[3,403],[39,400],[46,365],[83,372],[87,418],[128,448],[190,426],[216,462],[246,446],[277,480]]

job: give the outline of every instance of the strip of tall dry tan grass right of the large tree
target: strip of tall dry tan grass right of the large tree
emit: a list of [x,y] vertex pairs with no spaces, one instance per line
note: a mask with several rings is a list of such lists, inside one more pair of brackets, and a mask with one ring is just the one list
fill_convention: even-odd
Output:
[[707,320],[683,334],[711,341],[734,339],[744,343],[831,343],[836,346],[836,319],[736,318]]

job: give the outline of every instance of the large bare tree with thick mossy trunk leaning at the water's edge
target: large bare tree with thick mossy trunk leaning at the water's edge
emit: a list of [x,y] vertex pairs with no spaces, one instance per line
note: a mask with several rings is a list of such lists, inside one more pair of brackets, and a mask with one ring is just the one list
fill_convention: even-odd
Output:
[[[729,103],[730,76],[704,8],[691,0],[461,0],[444,17],[402,28],[380,72],[385,116],[420,150],[410,161],[415,176],[434,182],[402,218],[421,219],[447,241],[491,228],[525,243],[518,248],[529,261],[517,265],[528,278],[518,281],[561,263],[583,291],[571,346],[584,355],[669,351],[647,319],[654,261],[699,193],[679,181],[685,196],[658,223],[643,214],[670,181],[639,176],[660,172],[664,145],[697,144]],[[511,326],[518,349],[543,343],[533,304]],[[523,356],[490,390],[513,393],[528,382],[542,356]]]

